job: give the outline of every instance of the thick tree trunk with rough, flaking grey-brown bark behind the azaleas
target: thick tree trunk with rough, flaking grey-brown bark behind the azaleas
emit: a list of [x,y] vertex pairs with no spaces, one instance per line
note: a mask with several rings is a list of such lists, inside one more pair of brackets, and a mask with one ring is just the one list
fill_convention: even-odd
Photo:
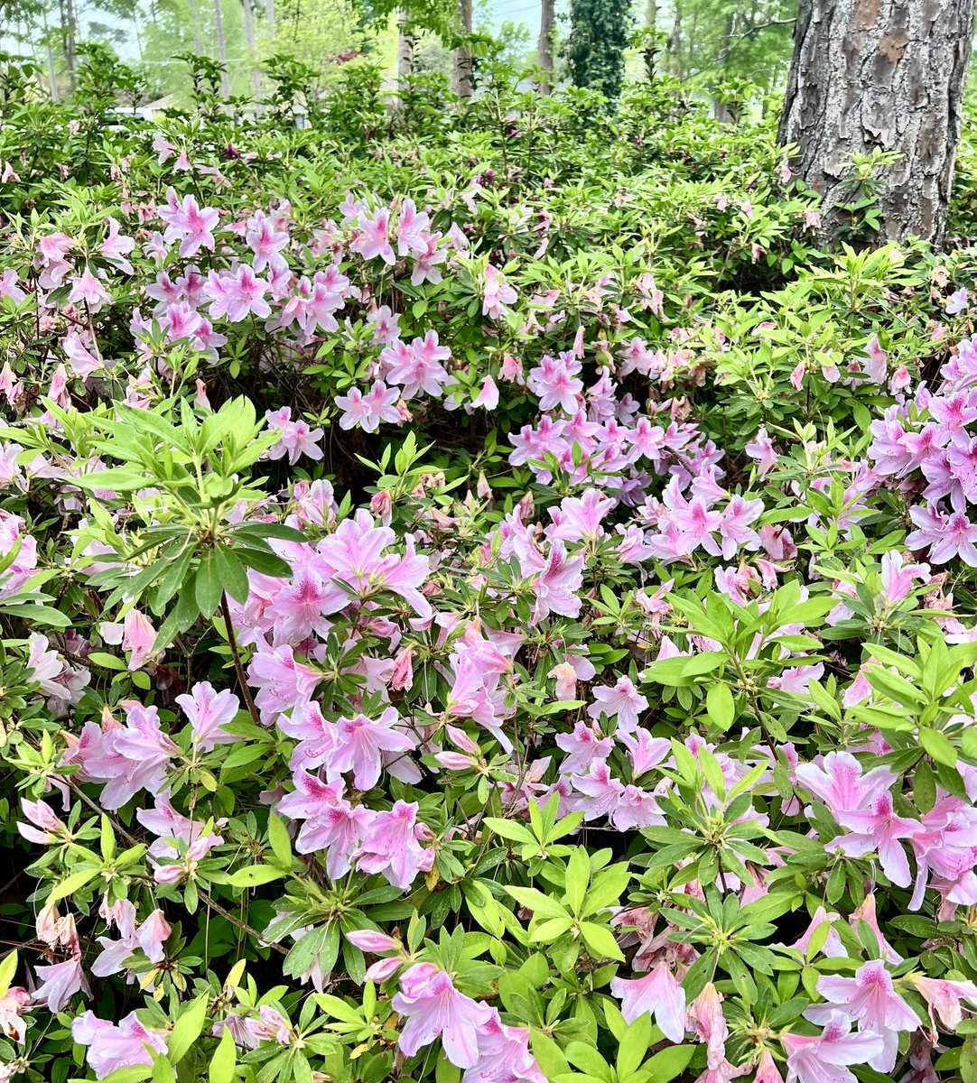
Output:
[[779,135],[826,234],[846,160],[880,147],[901,155],[880,178],[885,236],[942,243],[973,22],[974,0],[800,0]]

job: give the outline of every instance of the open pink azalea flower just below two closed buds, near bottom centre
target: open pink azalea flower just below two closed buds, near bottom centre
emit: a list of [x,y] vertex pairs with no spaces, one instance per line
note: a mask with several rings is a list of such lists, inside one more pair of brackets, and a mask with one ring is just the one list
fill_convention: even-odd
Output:
[[444,1054],[457,1068],[479,1060],[478,1033],[492,1019],[487,1005],[455,989],[451,976],[431,963],[417,963],[401,977],[393,1010],[407,1021],[398,1045],[407,1057],[441,1039]]

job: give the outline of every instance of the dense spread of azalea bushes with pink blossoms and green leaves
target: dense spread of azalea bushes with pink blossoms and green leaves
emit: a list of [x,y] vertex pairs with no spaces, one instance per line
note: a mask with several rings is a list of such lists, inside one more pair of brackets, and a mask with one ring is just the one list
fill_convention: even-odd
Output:
[[972,1083],[966,250],[663,84],[90,63],[0,96],[0,1079]]

